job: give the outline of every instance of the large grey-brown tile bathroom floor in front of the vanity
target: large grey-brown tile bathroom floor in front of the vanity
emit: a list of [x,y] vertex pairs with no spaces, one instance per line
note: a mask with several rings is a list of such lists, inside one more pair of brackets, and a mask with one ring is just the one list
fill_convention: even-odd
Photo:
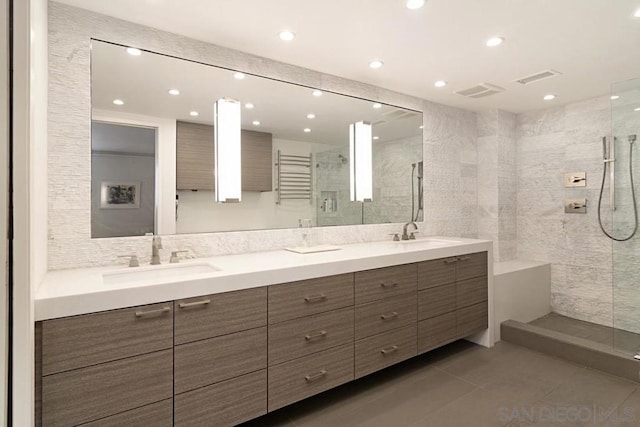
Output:
[[640,426],[640,384],[506,342],[458,341],[244,425]]

